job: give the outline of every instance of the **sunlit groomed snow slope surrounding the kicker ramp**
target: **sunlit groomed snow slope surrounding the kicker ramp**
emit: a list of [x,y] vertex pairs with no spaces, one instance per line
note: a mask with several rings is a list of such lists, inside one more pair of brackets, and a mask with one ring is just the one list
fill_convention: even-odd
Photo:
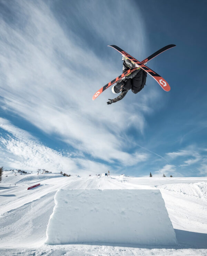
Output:
[[[6,177],[8,175],[8,177]],[[41,183],[27,190],[28,186]],[[15,186],[16,184],[16,186]],[[178,246],[45,245],[58,189],[159,189]],[[0,255],[207,255],[207,177],[63,177],[3,172],[0,183]]]

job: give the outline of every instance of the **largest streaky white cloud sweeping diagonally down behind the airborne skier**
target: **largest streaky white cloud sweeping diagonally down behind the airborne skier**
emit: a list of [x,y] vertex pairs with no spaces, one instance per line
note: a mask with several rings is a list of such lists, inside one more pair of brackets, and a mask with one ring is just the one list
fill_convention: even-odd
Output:
[[[81,17],[82,26],[88,24],[93,35],[104,37],[108,43],[117,40],[110,26],[112,22],[118,24],[122,45],[129,47],[122,29],[136,30],[133,42],[139,41],[139,47],[137,43],[130,47],[132,53],[136,50],[141,55],[145,51],[145,32],[138,21],[139,12],[132,6],[122,8],[122,1],[117,3],[116,12],[111,15],[105,1],[89,1],[83,6],[79,2],[74,15],[77,19]],[[140,99],[141,111],[136,108],[136,101],[131,101],[128,107],[128,95],[121,104],[107,106],[110,89],[103,97],[92,101],[97,89],[120,74],[121,61],[118,66],[112,58],[101,58],[96,49],[85,44],[82,31],[78,27],[75,31],[72,25],[74,15],[67,17],[64,24],[56,18],[61,17],[61,13],[51,11],[52,8],[42,1],[14,1],[12,6],[4,1],[3,4],[5,11],[0,18],[2,108],[93,158],[124,165],[146,160],[147,155],[135,152],[135,157],[127,153],[130,146],[126,145],[131,145],[132,141],[123,137],[123,133],[130,126],[143,133],[146,123],[143,113],[152,111],[151,106],[159,95],[144,94]],[[123,19],[125,16],[129,20]],[[133,17],[136,17],[135,23],[131,22]]]

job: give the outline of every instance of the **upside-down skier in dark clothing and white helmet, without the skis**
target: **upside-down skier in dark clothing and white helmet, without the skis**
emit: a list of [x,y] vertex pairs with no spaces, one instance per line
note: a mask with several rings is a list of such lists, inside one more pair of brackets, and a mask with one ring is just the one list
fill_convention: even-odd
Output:
[[[123,67],[122,73],[127,71],[129,68],[133,69],[136,67],[135,63],[131,62],[127,57],[122,55]],[[120,93],[116,98],[109,99],[107,104],[115,103],[122,100],[127,92],[131,90],[133,93],[138,93],[144,88],[147,79],[147,73],[141,68],[137,68],[133,73],[125,76],[125,79],[117,82],[112,86],[111,91],[113,93]]]

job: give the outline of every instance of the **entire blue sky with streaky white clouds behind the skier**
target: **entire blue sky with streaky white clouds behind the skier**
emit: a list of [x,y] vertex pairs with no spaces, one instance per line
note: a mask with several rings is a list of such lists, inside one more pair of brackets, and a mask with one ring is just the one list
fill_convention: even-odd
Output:
[[[206,1],[0,2],[0,165],[68,174],[206,176]],[[111,105],[115,44],[148,66]]]

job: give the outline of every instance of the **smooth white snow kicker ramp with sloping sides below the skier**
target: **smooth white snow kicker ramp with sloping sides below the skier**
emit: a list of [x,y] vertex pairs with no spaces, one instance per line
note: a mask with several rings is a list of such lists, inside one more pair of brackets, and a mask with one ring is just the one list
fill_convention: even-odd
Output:
[[175,245],[159,190],[58,190],[46,244]]

